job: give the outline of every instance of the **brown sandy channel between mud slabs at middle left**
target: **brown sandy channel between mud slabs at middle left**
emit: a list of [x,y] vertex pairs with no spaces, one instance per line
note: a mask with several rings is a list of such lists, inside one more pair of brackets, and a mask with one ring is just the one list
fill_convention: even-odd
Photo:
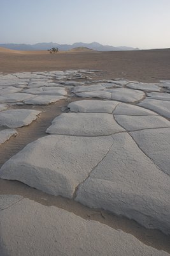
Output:
[[47,106],[12,106],[13,109],[34,109],[41,111],[41,114],[31,124],[17,128],[17,136],[11,137],[0,147],[0,168],[12,156],[17,154],[28,143],[37,140],[43,136],[47,136],[46,129],[51,125],[53,118],[59,116],[62,112],[61,108],[67,106],[66,100],[60,100],[56,104]]

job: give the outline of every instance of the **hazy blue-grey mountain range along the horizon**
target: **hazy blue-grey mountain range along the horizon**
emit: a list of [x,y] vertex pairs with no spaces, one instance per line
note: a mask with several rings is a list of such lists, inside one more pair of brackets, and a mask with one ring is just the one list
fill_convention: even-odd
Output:
[[102,45],[97,42],[90,44],[85,43],[74,43],[74,44],[57,44],[57,43],[38,43],[38,44],[0,44],[0,47],[7,49],[18,50],[18,51],[45,51],[52,47],[58,47],[59,51],[69,51],[76,47],[87,47],[95,51],[133,51],[139,50],[138,48],[120,46],[114,47],[110,45]]

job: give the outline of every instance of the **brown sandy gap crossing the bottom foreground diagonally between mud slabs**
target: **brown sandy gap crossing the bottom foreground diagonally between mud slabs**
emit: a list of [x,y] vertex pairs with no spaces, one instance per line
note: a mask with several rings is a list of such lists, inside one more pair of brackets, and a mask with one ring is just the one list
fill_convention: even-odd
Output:
[[48,195],[17,180],[0,179],[0,195],[21,195],[42,205],[59,207],[60,209],[73,212],[85,220],[99,221],[111,228],[123,230],[148,246],[170,253],[169,236],[166,236],[159,230],[142,227],[136,221],[129,220],[124,216],[116,216],[101,209],[90,209],[85,205],[62,196]]

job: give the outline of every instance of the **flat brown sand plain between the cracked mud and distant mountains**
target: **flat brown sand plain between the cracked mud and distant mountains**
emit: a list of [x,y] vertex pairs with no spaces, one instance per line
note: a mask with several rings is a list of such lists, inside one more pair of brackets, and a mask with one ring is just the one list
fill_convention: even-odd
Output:
[[141,82],[169,79],[170,49],[120,52],[58,52],[15,53],[0,50],[0,72],[50,71],[66,69],[97,69],[104,71],[101,79],[126,78]]

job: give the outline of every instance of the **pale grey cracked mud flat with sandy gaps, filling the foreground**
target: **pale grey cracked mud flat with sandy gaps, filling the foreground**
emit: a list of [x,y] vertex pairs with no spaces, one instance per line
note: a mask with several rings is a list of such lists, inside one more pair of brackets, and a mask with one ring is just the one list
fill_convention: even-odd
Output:
[[[58,255],[169,255],[169,81],[97,80],[100,73],[66,70],[0,76],[4,118],[13,109],[38,111],[33,119],[25,119],[23,127],[18,119],[11,120],[18,125],[17,134],[4,137],[0,147],[2,255],[23,254],[24,248],[29,249],[25,255],[46,255],[41,244],[48,236],[53,237],[47,241],[50,255],[56,250]],[[0,132],[8,129],[1,124]],[[30,214],[28,218],[29,211],[42,219],[33,220]],[[57,214],[61,223],[49,214]],[[20,216],[28,236],[24,224],[17,228]],[[67,218],[73,222],[67,223]],[[85,220],[91,221],[90,228]],[[46,222],[43,228],[41,221]],[[42,235],[30,241],[32,227]],[[93,246],[88,238],[93,232],[102,246]],[[17,243],[16,235],[25,236],[24,245],[22,238]],[[80,243],[75,243],[76,236]],[[30,250],[31,243],[39,249]],[[75,251],[68,249],[73,246]]]

